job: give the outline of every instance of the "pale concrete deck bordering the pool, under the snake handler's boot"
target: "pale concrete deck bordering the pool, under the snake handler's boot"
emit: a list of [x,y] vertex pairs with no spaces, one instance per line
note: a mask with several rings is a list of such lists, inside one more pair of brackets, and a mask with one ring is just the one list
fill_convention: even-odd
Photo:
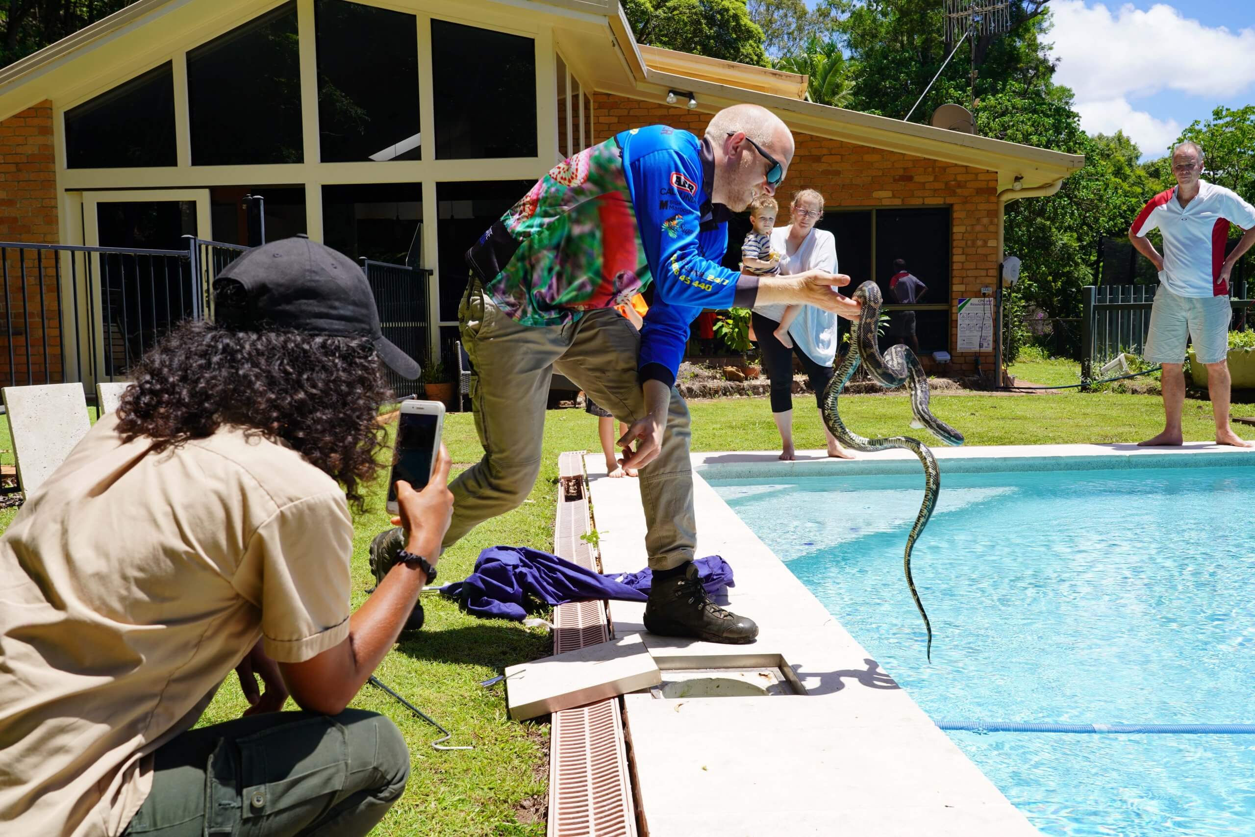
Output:
[[[1255,452],[1024,445],[935,448],[945,472],[1255,466]],[[644,605],[611,602],[616,636],[641,634],[659,668],[791,668],[804,695],[624,698],[644,823],[651,837],[689,834],[1037,834],[934,722],[880,669],[783,562],[715,493],[717,478],[915,473],[909,452],[828,459],[822,450],[694,454],[698,556],[722,555],[737,586],[720,604],[761,626],[752,645],[644,631]],[[610,479],[585,457],[602,570],[645,566],[635,479]],[[926,665],[920,649],[920,665]]]

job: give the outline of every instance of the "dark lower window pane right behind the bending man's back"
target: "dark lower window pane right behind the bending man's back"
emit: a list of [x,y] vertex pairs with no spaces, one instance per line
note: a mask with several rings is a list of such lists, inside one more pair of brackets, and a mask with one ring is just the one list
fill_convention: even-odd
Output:
[[467,250],[533,184],[533,181],[435,184],[442,320],[458,319],[458,302],[469,270],[464,259]]

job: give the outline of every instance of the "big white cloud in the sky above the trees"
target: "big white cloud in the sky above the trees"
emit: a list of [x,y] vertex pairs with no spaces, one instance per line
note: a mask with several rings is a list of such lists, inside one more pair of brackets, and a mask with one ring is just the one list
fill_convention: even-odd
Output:
[[1162,3],[1142,11],[1055,0],[1050,10],[1054,80],[1076,92],[1081,125],[1089,133],[1123,131],[1145,153],[1166,148],[1181,123],[1137,110],[1131,99],[1176,90],[1205,99],[1210,112],[1255,82],[1255,29],[1205,26]]

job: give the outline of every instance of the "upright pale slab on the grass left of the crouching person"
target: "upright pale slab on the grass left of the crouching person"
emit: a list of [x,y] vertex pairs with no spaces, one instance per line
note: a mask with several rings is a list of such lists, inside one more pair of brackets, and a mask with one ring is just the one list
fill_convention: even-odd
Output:
[[70,454],[92,422],[82,384],[5,387],[18,483],[30,497]]

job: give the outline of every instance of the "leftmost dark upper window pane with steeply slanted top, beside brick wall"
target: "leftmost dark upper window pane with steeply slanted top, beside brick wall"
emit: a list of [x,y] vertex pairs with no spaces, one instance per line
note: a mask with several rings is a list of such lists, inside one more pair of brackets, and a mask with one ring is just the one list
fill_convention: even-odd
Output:
[[69,168],[177,166],[171,64],[67,110],[65,157]]

